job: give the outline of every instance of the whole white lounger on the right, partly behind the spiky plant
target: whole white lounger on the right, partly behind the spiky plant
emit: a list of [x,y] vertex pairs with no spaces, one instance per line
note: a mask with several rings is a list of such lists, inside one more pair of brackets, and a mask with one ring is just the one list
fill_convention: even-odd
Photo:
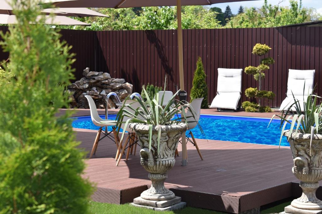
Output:
[[[287,110],[296,100],[301,109],[304,108],[303,98],[306,101],[308,95],[313,93],[315,70],[293,70],[289,69],[286,98],[283,100],[279,110]],[[305,89],[304,89],[305,83]],[[304,89],[304,94],[303,94]],[[293,93],[293,94],[292,94]],[[296,99],[294,101],[294,98]],[[295,110],[295,107],[291,108]]]

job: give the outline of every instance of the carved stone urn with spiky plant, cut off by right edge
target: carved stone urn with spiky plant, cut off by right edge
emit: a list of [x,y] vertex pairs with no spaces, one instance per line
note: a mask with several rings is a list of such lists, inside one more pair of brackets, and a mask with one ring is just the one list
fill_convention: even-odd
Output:
[[[303,190],[301,197],[285,207],[285,213],[322,211],[322,201],[315,194],[319,187],[318,181],[322,180],[322,107],[317,105],[317,98],[320,97],[310,95],[306,101],[294,98],[292,106],[296,109],[295,114],[291,106],[282,110],[282,116],[276,115],[281,118],[279,143],[282,136],[287,136],[293,153],[292,172],[300,180]],[[304,109],[298,105],[299,102],[304,102]],[[285,130],[286,124],[290,124],[289,130]]]

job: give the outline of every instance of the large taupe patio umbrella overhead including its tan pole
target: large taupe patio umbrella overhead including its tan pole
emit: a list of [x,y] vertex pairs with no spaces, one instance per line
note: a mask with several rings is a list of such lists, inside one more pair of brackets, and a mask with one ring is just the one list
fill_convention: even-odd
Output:
[[[183,42],[181,26],[181,6],[182,5],[210,5],[225,2],[240,2],[245,0],[46,0],[57,7],[103,7],[103,8],[126,8],[126,7],[150,7],[150,6],[177,6],[178,22],[178,56],[179,56],[179,99],[186,100],[187,92],[184,84],[183,67]],[[246,0],[254,1],[254,0]],[[182,166],[187,165],[187,153],[185,134],[182,135]]]

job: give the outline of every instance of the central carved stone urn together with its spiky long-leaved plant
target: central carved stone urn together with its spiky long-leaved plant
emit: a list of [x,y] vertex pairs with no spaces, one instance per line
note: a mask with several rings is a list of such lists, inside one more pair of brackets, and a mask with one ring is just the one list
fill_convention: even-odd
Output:
[[[135,97],[140,107],[133,109],[130,105],[125,104],[117,115],[118,131],[121,124],[125,123],[125,128],[129,126],[136,132],[141,146],[140,163],[149,172],[148,177],[152,181],[151,188],[141,193],[141,197],[134,199],[134,205],[162,209],[178,203],[182,203],[184,206],[185,203],[180,202],[180,197],[176,197],[172,191],[166,189],[164,182],[167,172],[175,165],[175,150],[179,138],[187,129],[185,110],[191,112],[194,110],[188,103],[175,99],[179,91],[165,106],[159,105],[159,103],[163,103],[163,96],[159,98],[159,94],[156,93],[155,98],[151,100],[144,87],[143,92],[147,98],[146,102]],[[131,111],[126,110],[125,107]],[[177,114],[181,114],[181,117],[173,119]],[[130,119],[123,121],[124,117]],[[198,121],[196,122],[198,123]],[[199,128],[201,129],[200,125]],[[124,133],[122,133],[121,141]],[[176,207],[180,208],[180,206]]]

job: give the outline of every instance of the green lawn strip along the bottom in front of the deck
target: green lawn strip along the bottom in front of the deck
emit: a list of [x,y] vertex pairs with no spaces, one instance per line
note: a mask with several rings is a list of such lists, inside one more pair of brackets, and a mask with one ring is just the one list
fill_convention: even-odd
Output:
[[[293,198],[287,198],[281,201],[277,201],[271,204],[267,204],[261,207],[260,213],[268,214],[268,213],[279,213],[284,211],[284,207],[289,205]],[[131,206],[130,204],[108,204],[108,203],[99,203],[99,202],[90,202],[90,212],[92,214],[106,214],[106,213],[117,213],[117,214],[160,214],[159,211],[147,210],[142,208],[137,208]],[[174,213],[182,213],[182,214],[220,214],[224,212],[213,211],[213,210],[205,210],[194,207],[186,207],[183,210],[175,210],[175,211],[164,211],[162,214],[174,214]]]

